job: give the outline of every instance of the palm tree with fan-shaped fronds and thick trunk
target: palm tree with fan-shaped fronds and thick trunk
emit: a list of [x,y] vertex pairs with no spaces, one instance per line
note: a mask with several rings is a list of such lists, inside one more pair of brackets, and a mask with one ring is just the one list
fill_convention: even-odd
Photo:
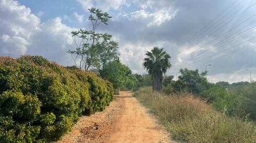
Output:
[[153,90],[160,92],[164,74],[171,67],[170,55],[163,48],[154,47],[147,51],[143,66],[152,75]]

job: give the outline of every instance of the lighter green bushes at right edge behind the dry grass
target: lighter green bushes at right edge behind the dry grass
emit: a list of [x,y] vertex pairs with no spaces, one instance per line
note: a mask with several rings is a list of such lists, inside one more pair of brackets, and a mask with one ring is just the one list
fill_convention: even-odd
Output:
[[[210,103],[216,110],[223,112],[227,115],[239,116],[240,118],[249,117],[256,120],[255,112],[255,88],[256,84],[252,83],[247,85],[246,82],[239,82],[226,86],[234,90],[227,92],[225,85],[221,83],[212,86],[208,90],[204,90],[200,96],[207,103]],[[221,85],[221,86],[220,86]],[[246,86],[247,85],[247,86]]]

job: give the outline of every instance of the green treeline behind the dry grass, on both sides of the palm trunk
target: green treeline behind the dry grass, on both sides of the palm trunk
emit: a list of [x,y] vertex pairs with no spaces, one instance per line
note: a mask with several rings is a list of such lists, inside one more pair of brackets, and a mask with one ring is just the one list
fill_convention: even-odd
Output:
[[[181,69],[177,80],[173,75],[165,75],[161,86],[161,92],[166,95],[192,93],[200,97],[215,110],[226,115],[238,116],[256,120],[256,83],[228,82],[209,83],[206,72],[199,73],[199,70]],[[152,86],[151,75],[138,75],[137,84],[133,89]]]

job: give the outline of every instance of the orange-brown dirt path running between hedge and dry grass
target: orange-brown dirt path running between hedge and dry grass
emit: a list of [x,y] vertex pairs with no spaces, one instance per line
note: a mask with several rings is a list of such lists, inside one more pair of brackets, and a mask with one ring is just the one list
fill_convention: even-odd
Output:
[[59,142],[170,142],[130,92],[115,96],[103,112],[82,116]]

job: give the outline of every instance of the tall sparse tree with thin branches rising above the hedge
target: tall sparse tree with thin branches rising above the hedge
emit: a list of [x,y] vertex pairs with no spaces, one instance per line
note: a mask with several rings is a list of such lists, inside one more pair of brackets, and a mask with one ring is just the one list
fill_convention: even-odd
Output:
[[[68,50],[75,66],[79,69],[88,70],[90,67],[104,68],[108,61],[118,58],[118,43],[111,41],[112,36],[104,33],[96,33],[100,24],[108,24],[111,18],[108,12],[102,12],[96,8],[88,9],[91,22],[91,30],[73,31],[72,36],[76,44],[75,50]],[[76,41],[76,38],[79,41]]]

